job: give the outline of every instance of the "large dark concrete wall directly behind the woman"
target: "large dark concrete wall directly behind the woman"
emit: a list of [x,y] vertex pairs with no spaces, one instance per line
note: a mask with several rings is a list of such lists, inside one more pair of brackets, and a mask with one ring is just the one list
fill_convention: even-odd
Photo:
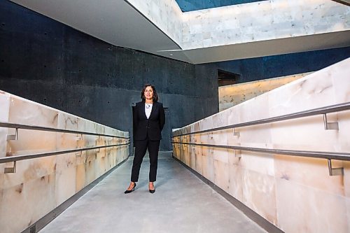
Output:
[[132,104],[152,83],[167,107],[162,150],[172,148],[172,128],[218,111],[214,73],[118,48],[7,0],[0,51],[0,90],[130,133]]

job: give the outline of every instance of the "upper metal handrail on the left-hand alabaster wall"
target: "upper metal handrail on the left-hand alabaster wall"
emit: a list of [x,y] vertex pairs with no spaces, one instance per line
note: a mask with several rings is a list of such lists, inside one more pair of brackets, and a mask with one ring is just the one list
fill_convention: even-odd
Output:
[[20,124],[8,123],[8,122],[0,122],[0,127],[15,128],[15,129],[32,129],[32,130],[41,130],[41,131],[58,132],[58,133],[69,133],[69,134],[87,134],[87,135],[94,135],[94,136],[109,136],[109,137],[118,138],[118,139],[130,139],[130,136],[115,136],[115,135],[109,135],[109,134],[97,134],[97,133],[92,133],[92,132],[83,132],[83,131],[69,130],[69,129],[55,129],[55,128],[51,128],[51,127],[41,127],[41,126],[35,126],[35,125],[20,125]]

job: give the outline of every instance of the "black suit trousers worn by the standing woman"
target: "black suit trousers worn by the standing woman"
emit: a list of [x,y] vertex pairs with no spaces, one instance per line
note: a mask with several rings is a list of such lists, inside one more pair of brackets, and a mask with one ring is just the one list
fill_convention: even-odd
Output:
[[157,169],[158,169],[158,151],[160,140],[152,141],[146,137],[145,140],[135,140],[135,155],[134,161],[132,162],[132,175],[131,181],[137,182],[139,181],[139,174],[142,160],[146,155],[146,150],[148,149],[149,157],[150,157],[150,173],[149,173],[149,181],[154,182],[157,177]]

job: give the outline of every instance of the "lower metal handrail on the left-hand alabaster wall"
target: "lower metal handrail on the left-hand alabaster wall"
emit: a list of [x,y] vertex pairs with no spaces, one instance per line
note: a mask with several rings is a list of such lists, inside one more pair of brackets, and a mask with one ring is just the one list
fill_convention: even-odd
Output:
[[125,146],[129,145],[128,143],[121,143],[121,144],[114,144],[114,145],[107,145],[107,146],[93,146],[93,147],[85,147],[85,148],[76,148],[71,150],[58,150],[53,152],[47,152],[47,153],[38,153],[38,154],[31,154],[31,155],[14,155],[9,157],[1,157],[0,158],[0,164],[6,163],[6,162],[16,162],[20,160],[29,160],[34,159],[38,157],[47,157],[52,155],[62,155],[62,154],[68,154],[68,153],[75,153],[79,151],[85,151],[85,150],[94,150],[94,149],[101,149],[101,148],[107,148],[107,147],[113,147],[113,146]]

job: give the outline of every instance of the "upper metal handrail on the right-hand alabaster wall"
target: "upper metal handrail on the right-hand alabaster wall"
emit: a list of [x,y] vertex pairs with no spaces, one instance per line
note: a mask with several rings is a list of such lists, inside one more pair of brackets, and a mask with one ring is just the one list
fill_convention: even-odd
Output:
[[304,117],[311,116],[311,115],[319,115],[319,114],[325,115],[326,113],[346,111],[349,109],[350,109],[350,102],[346,102],[343,104],[335,104],[335,105],[325,106],[325,107],[321,107],[321,108],[314,108],[314,109],[307,110],[307,111],[290,113],[287,115],[280,115],[280,116],[273,117],[273,118],[265,118],[262,120],[253,120],[253,121],[239,123],[239,124],[235,124],[235,125],[227,125],[227,126],[223,126],[223,127],[216,127],[213,129],[204,129],[204,130],[200,130],[197,132],[188,132],[185,134],[177,134],[177,135],[172,136],[172,138],[178,137],[178,136],[185,136],[185,135],[189,135],[189,134],[203,134],[203,133],[215,132],[215,131],[219,131],[219,130],[223,130],[223,129],[232,129],[232,128],[251,126],[251,125],[266,124],[266,123],[270,123],[270,122],[290,120],[290,119],[295,119],[295,118],[304,118]]

